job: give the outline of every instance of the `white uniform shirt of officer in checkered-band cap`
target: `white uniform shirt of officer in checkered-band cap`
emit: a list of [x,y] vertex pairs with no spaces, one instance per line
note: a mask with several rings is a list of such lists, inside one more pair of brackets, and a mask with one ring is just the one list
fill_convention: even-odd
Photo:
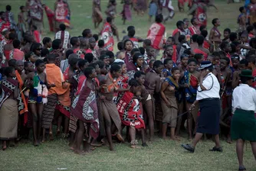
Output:
[[202,86],[204,86],[206,90],[202,91],[201,87],[199,86],[197,88],[196,100],[202,100],[205,98],[220,98],[220,85],[217,77],[213,73],[208,73],[208,75],[205,76],[202,81]]

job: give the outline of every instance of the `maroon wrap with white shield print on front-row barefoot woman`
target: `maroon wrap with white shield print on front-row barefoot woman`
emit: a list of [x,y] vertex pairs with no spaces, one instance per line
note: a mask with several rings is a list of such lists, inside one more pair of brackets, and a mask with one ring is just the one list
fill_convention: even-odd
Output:
[[97,102],[95,91],[90,89],[85,82],[84,88],[80,91],[80,95],[74,99],[71,106],[71,112],[74,117],[80,121],[90,123],[90,135],[97,138],[99,135],[99,119],[97,111]]

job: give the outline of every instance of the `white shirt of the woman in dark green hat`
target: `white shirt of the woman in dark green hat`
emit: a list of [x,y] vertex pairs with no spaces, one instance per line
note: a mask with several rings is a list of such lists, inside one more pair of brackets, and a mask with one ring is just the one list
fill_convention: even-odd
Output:
[[232,108],[245,111],[256,111],[256,90],[247,84],[240,84],[232,95]]

